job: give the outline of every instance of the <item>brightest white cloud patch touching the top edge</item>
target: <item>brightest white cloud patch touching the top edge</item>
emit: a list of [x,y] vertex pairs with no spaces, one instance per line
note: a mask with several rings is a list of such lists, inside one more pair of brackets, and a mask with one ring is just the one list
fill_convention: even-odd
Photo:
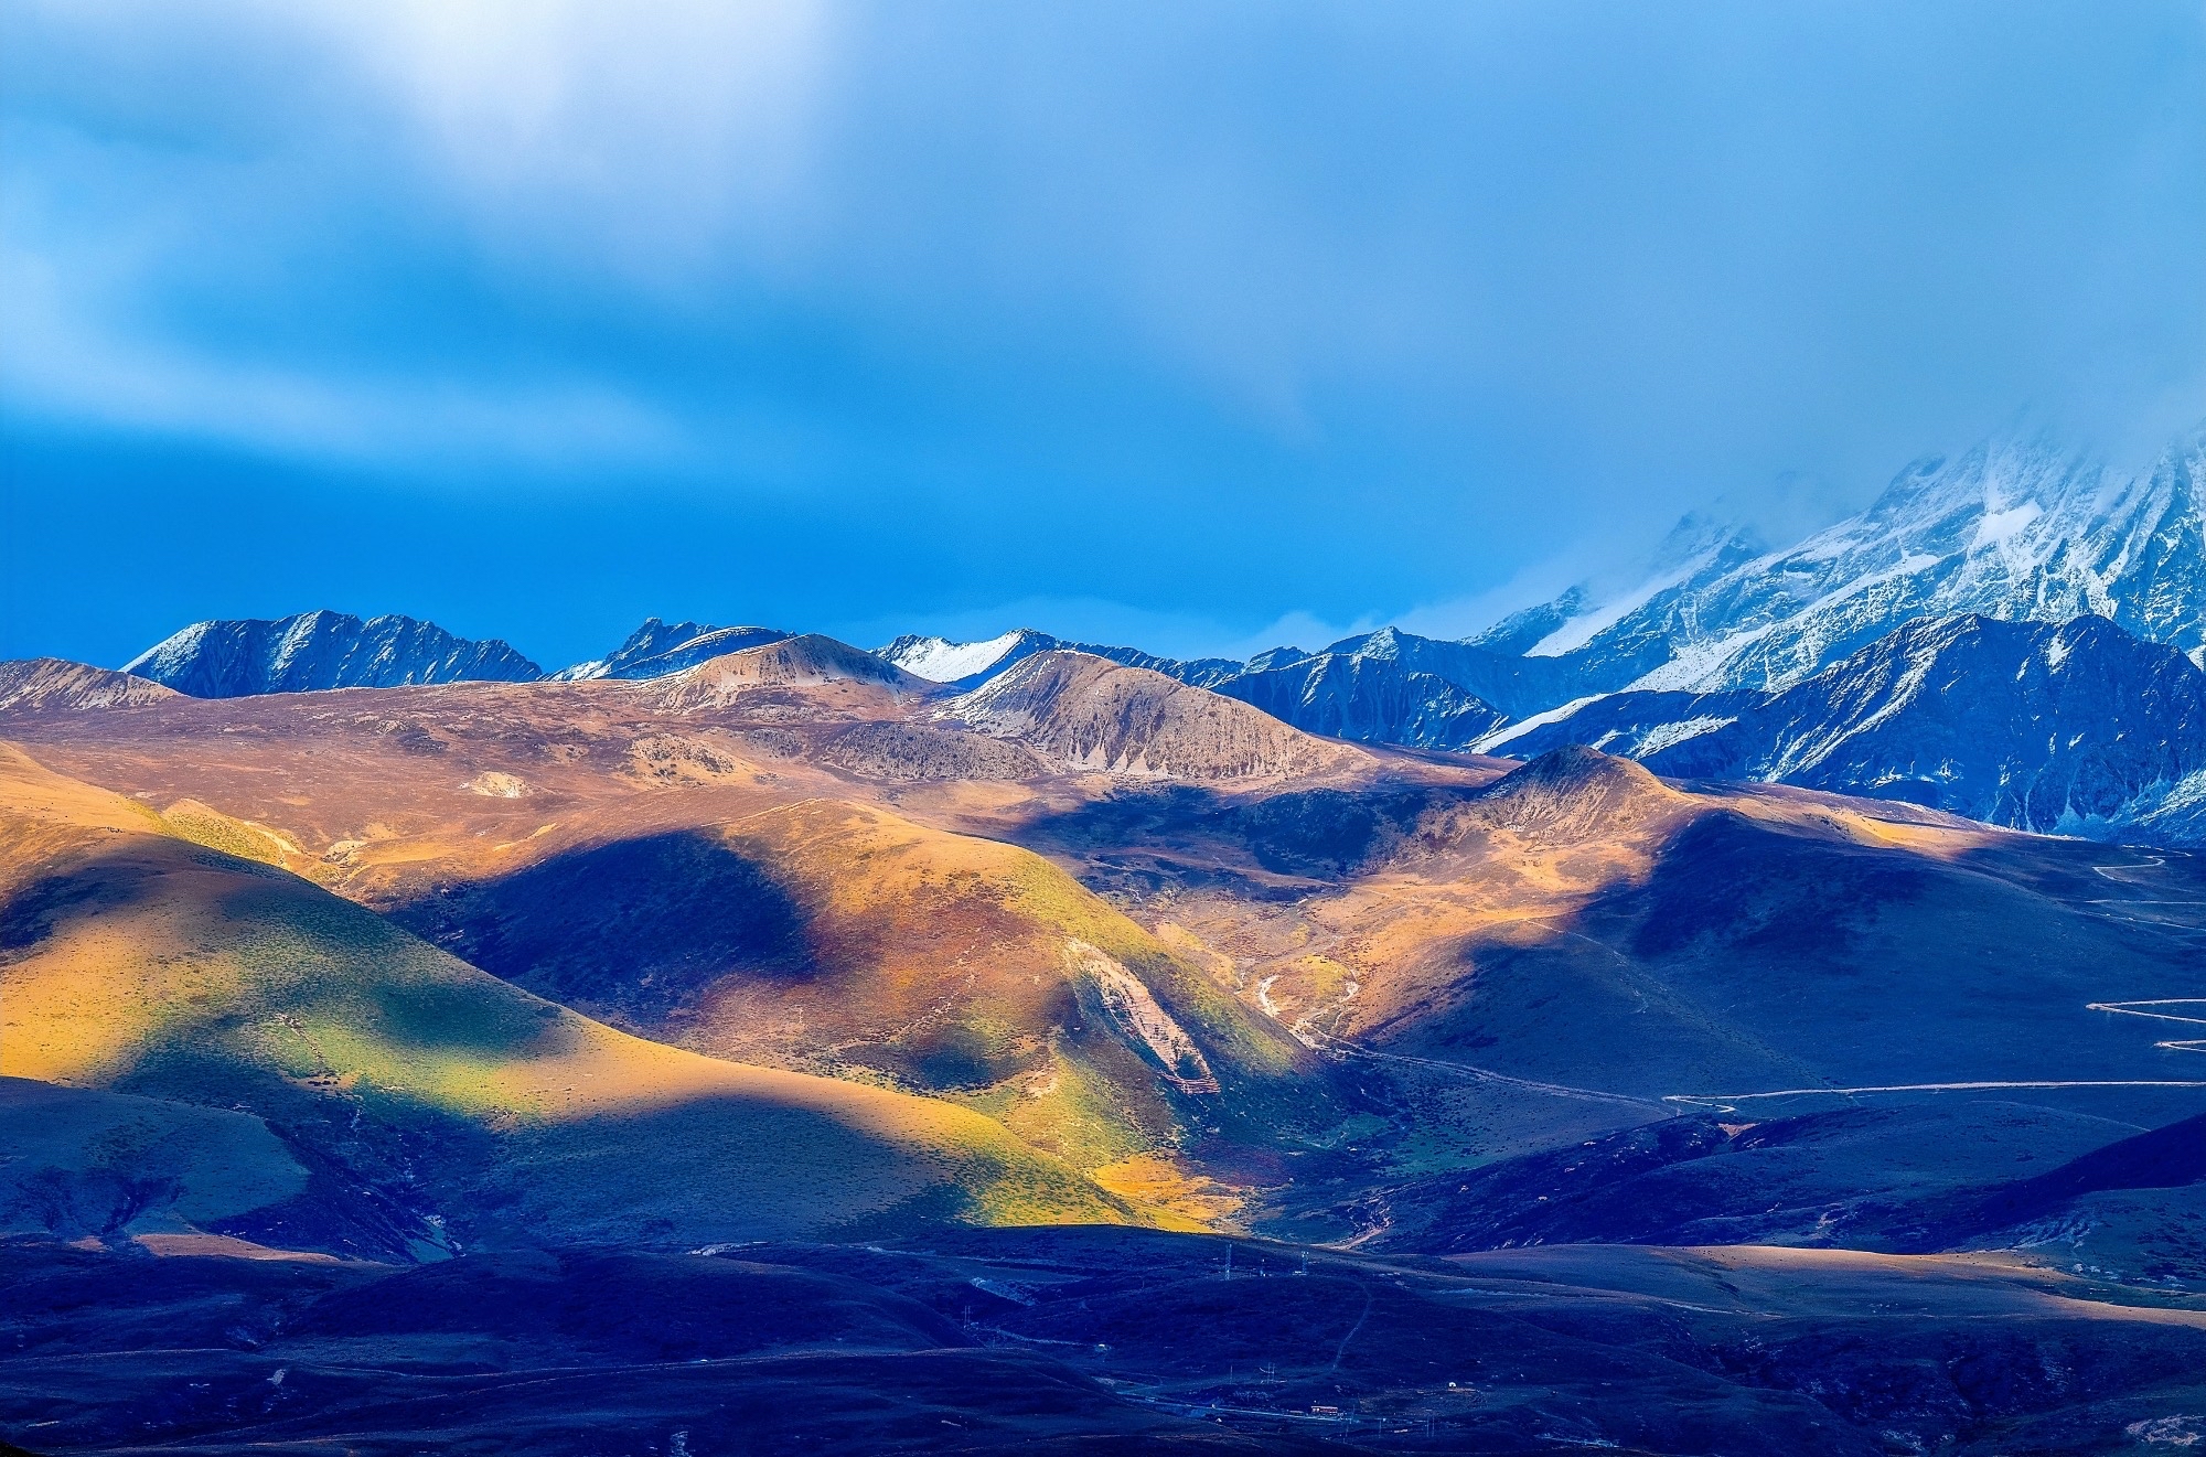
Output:
[[499,245],[675,283],[805,216],[834,26],[816,0],[267,4],[318,26]]

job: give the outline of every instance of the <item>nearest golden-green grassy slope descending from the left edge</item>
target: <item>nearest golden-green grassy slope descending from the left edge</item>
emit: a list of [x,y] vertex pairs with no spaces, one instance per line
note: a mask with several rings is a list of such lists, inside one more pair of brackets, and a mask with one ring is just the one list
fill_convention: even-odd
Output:
[[159,830],[0,751],[0,1073],[366,1121],[488,1241],[1134,1216],[966,1108],[629,1038]]

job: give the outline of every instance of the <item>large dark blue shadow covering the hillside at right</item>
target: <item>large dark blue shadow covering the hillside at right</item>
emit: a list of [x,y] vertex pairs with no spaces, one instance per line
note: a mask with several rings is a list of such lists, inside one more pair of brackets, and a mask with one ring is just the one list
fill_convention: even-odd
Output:
[[2184,932],[1988,861],[1712,812],[1555,910],[1463,943],[1379,1042],[1641,1095],[2197,1075],[2089,1011],[2206,996]]

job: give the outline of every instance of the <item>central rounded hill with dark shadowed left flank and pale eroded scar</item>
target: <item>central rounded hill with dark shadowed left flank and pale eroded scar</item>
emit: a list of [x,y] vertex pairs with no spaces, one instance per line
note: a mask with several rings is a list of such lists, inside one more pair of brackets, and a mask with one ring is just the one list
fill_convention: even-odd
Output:
[[[871,806],[591,846],[406,918],[646,1035],[951,1095],[1081,1168],[1324,1117],[1293,1040],[1063,870]],[[1169,1086],[1077,943],[1149,989],[1218,1093]]]

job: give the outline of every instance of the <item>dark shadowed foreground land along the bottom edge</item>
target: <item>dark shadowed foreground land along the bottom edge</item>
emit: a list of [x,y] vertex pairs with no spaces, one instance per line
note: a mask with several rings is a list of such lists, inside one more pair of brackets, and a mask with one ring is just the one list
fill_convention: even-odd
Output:
[[1134,1230],[404,1272],[15,1243],[0,1333],[0,1431],[84,1455],[1990,1457],[2180,1450],[2206,1395],[2195,1298],[2005,1261]]

